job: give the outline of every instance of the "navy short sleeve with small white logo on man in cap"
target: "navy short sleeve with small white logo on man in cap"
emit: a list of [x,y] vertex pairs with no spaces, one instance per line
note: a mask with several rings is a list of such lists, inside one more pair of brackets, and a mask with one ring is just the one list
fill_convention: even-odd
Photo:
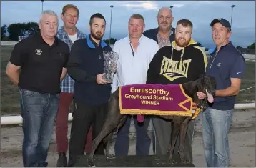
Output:
[[230,69],[230,78],[242,79],[245,73],[245,59],[242,55],[237,55],[232,68]]

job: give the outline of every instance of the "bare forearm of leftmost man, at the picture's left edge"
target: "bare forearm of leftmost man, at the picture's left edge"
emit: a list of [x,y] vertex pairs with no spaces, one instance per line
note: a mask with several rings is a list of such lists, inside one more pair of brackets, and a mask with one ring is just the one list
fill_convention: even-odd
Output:
[[9,61],[6,66],[6,75],[9,77],[9,79],[18,86],[19,84],[19,69],[21,66],[16,66],[14,64],[11,64]]

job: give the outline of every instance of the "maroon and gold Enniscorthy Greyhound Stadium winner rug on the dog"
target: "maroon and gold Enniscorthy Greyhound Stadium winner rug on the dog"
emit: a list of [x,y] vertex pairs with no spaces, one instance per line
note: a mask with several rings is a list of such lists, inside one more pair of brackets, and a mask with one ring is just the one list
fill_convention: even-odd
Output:
[[182,84],[131,84],[119,87],[121,114],[192,117],[193,102]]

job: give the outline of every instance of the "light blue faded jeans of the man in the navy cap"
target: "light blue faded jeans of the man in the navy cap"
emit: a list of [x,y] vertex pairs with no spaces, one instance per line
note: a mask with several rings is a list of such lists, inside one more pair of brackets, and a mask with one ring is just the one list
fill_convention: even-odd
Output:
[[229,167],[228,132],[232,123],[231,110],[207,107],[202,117],[202,138],[207,167]]

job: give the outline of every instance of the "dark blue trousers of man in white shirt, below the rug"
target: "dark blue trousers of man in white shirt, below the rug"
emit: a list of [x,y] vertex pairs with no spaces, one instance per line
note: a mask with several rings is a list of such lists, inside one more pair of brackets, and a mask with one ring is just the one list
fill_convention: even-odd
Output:
[[[124,126],[117,132],[117,138],[114,144],[114,153],[116,155],[128,155],[131,119],[132,117],[128,116]],[[133,119],[136,128],[136,155],[148,155],[151,139],[147,134],[147,127],[149,127],[150,118],[145,117],[142,123],[137,122],[137,115],[134,115]]]

